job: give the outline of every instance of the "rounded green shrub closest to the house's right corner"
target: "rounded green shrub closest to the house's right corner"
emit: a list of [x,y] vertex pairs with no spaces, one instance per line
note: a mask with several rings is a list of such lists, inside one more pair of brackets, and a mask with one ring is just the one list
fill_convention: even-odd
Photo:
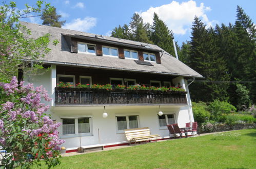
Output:
[[207,111],[207,105],[204,102],[192,102],[192,110],[194,115],[194,121],[203,123],[210,118],[210,112]]

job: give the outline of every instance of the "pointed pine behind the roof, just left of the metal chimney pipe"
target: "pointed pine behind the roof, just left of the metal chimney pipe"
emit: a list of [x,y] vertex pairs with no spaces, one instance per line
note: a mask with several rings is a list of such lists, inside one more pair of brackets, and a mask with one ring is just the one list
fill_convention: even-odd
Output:
[[152,34],[151,40],[153,43],[166,52],[174,55],[174,49],[172,45],[173,33],[168,29],[166,24],[154,13],[153,17],[153,26],[152,26]]

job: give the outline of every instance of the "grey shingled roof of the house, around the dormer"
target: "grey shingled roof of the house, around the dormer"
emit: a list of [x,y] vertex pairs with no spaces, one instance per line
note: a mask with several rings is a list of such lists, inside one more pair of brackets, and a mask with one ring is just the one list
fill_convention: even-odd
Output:
[[[132,59],[120,59],[111,56],[94,56],[90,54],[82,53],[71,53],[69,46],[66,43],[65,38],[62,34],[66,35],[82,35],[87,37],[95,37],[96,34],[85,33],[80,31],[50,27],[45,25],[38,25],[32,23],[21,22],[28,29],[31,30],[30,38],[37,38],[43,36],[46,33],[50,33],[50,38],[57,39],[61,43],[56,46],[49,44],[51,52],[46,55],[42,60],[45,63],[60,64],[60,65],[75,65],[82,67],[92,67],[101,69],[113,69],[113,70],[126,70],[126,71],[136,71],[136,72],[149,72],[156,74],[169,74],[169,75],[181,75],[186,77],[203,77],[199,73],[195,72],[183,62],[174,58],[167,52],[163,52],[161,57],[162,64],[156,64],[151,62],[153,66],[138,65]],[[100,35],[99,35],[100,36]],[[160,47],[152,44],[141,43],[138,41],[120,39],[115,37],[103,36],[106,40],[115,41],[117,43],[131,44],[136,46],[147,45],[153,50],[163,51]]]

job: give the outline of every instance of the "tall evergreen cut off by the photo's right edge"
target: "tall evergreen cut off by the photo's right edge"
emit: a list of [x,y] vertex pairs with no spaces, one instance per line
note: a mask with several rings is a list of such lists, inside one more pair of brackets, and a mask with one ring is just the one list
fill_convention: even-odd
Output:
[[[236,65],[233,78],[256,81],[256,29],[251,18],[239,6],[237,7],[234,32],[238,39],[237,50],[235,50],[238,65]],[[256,102],[255,83],[249,83],[247,88],[251,93],[251,99]]]

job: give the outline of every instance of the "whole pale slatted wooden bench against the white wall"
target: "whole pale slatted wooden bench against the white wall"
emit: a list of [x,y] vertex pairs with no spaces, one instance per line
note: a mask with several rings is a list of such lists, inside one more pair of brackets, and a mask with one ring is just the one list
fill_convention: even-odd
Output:
[[130,143],[132,141],[140,142],[140,141],[151,141],[153,139],[160,138],[160,135],[150,135],[150,130],[148,127],[146,128],[135,128],[135,129],[126,129],[125,136]]

